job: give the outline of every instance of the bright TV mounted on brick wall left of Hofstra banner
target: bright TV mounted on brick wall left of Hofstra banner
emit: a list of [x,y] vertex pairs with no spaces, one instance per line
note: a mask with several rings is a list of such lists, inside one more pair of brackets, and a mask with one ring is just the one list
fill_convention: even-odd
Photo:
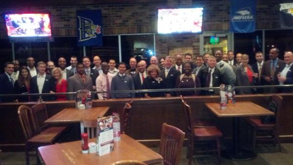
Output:
[[158,10],[158,33],[202,33],[204,8]]

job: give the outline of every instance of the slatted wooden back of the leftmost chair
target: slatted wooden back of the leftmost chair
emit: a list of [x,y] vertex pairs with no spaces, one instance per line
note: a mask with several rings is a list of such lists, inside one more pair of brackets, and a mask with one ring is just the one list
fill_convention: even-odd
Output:
[[29,106],[21,105],[18,108],[18,116],[26,140],[32,138],[36,134],[32,109]]

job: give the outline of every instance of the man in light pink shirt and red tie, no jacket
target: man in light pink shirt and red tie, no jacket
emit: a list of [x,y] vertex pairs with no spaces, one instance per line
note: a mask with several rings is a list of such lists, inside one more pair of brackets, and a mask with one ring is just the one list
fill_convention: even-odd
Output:
[[[102,62],[101,66],[103,73],[96,79],[97,92],[108,92],[110,91],[113,75],[108,74],[109,65],[107,62]],[[98,93],[98,98],[100,100],[110,99],[110,93]]]

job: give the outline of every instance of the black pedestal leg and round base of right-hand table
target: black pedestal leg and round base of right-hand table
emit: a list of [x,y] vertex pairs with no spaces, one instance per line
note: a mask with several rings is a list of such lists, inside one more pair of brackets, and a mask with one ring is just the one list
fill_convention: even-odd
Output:
[[240,117],[233,118],[233,149],[225,150],[222,152],[222,156],[226,159],[245,161],[251,160],[256,157],[256,154],[249,150],[240,149]]

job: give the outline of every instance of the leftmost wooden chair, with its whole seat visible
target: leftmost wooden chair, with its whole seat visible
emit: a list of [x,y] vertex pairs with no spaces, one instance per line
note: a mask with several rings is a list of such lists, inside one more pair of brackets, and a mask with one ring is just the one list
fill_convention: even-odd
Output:
[[[36,129],[36,125],[38,124],[36,123],[33,110],[26,105],[21,105],[18,108],[18,116],[25,137],[26,165],[29,165],[29,156],[31,156],[29,155],[29,151],[31,149],[35,149],[37,153],[37,148],[39,146],[54,144],[63,133],[65,127],[48,127],[44,129]],[[37,162],[39,163],[38,157]]]

